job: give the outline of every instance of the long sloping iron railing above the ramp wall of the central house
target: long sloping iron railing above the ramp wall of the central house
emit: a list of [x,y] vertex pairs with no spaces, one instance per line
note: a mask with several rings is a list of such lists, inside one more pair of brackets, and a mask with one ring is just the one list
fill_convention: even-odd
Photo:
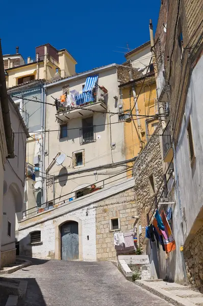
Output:
[[[86,190],[85,195],[83,195],[83,196],[86,196],[87,194],[90,194],[90,193],[96,192],[98,190],[101,190],[101,189],[105,188],[105,186],[107,186],[109,184],[114,184],[115,182],[126,179],[127,177],[129,177],[129,178],[132,177],[132,170],[133,170],[133,166],[129,167],[128,170],[122,171],[119,174],[115,174],[115,175],[109,177],[108,179],[105,179],[105,180],[102,180],[102,181],[97,181],[96,183],[93,183],[93,184],[85,187],[85,189],[89,189],[89,191],[87,192],[87,190]],[[129,172],[130,172],[130,174],[127,174]],[[124,173],[126,175],[122,175]],[[115,179],[115,177],[118,176],[118,175],[119,176],[121,175],[121,177],[119,177],[118,179]],[[109,182],[109,180],[111,180],[111,181]],[[95,185],[94,189],[91,188],[92,185]],[[77,192],[78,191],[79,190],[77,190]],[[77,199],[77,195],[75,193],[73,195],[72,192],[69,192],[69,193],[65,194],[64,196],[65,196],[65,199],[61,199],[61,196],[60,196],[58,198],[52,199],[52,202],[47,201],[45,203],[42,203],[41,206],[35,206],[35,207],[30,208],[26,211],[23,211],[22,212],[23,219],[32,217],[32,216],[34,216],[38,213],[42,213],[42,212],[47,211],[49,209],[56,208],[56,207],[58,207],[58,206],[60,206],[64,203],[66,205],[69,205],[73,200]],[[83,196],[81,196],[81,197],[83,197]],[[57,199],[58,199],[58,201],[56,201]],[[51,203],[51,205],[49,205],[49,203]]]

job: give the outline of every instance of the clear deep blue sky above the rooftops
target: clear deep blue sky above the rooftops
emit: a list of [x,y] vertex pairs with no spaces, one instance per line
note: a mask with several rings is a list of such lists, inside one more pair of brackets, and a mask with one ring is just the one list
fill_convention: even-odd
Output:
[[[35,57],[35,47],[50,43],[66,48],[77,60],[77,72],[124,62],[131,49],[149,40],[149,18],[156,30],[160,0],[2,2],[0,37],[3,54]],[[7,12],[7,13],[6,13]],[[117,52],[114,52],[117,51]]]

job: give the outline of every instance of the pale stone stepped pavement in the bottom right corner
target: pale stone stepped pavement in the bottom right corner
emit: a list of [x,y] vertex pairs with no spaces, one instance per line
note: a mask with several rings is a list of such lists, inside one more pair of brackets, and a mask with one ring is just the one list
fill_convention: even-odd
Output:
[[140,287],[154,293],[176,306],[203,306],[203,294],[191,286],[158,281],[136,281]]

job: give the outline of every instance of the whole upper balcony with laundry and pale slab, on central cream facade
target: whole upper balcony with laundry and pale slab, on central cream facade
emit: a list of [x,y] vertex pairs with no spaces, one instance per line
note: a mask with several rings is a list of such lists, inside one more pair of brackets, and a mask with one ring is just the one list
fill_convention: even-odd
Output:
[[[69,100],[65,99],[64,103],[55,100],[57,109],[56,118],[61,122],[67,122],[69,119],[83,117],[92,114],[92,111],[107,111],[107,94],[99,87],[94,88],[92,92],[92,101],[79,104],[76,101],[77,96],[69,96]],[[88,111],[89,110],[89,111]]]

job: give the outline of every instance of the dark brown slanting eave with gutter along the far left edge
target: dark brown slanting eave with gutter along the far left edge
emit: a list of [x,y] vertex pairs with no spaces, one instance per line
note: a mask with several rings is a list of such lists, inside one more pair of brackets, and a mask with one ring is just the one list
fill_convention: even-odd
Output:
[[2,45],[0,41],[0,96],[1,96],[1,106],[3,113],[4,129],[6,134],[8,158],[15,158],[14,148],[13,148],[13,133],[11,129],[11,120],[9,114],[9,102],[7,96],[4,61],[2,55]]

